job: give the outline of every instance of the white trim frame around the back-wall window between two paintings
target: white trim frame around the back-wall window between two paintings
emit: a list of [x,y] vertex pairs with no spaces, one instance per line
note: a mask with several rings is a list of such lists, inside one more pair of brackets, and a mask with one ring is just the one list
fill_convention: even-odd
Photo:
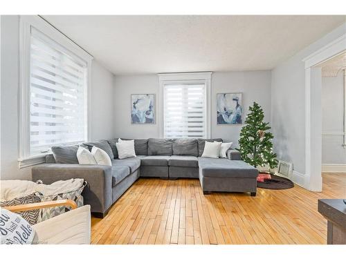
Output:
[[211,75],[212,72],[197,73],[162,73],[158,74],[159,79],[159,107],[158,126],[160,137],[164,137],[164,87],[169,84],[204,84],[206,86],[206,137],[211,135]]

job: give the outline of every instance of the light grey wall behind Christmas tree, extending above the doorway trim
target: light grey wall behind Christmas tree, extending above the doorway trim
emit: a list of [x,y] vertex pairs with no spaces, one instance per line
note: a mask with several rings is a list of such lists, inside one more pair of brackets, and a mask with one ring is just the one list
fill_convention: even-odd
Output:
[[346,32],[346,23],[272,70],[271,125],[278,158],[305,173],[305,74],[302,59]]

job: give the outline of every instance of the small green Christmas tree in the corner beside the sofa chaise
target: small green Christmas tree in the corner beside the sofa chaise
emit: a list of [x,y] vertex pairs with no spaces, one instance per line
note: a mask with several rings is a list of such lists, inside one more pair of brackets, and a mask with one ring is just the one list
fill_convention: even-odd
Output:
[[242,153],[242,160],[252,166],[265,166],[270,169],[277,166],[276,154],[273,153],[273,134],[268,132],[271,129],[267,122],[263,122],[264,113],[260,105],[256,102],[249,107],[250,113],[246,116],[245,126],[242,127],[239,137],[239,148]]

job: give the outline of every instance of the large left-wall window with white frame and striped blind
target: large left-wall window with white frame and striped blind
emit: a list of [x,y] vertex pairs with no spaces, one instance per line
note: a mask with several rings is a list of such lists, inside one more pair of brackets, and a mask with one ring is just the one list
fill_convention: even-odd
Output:
[[[21,19],[24,19],[21,21],[24,57],[19,161],[42,157],[53,145],[88,139],[87,86],[91,61],[88,55],[82,59],[80,48],[44,20]],[[76,48],[79,50],[75,51]]]

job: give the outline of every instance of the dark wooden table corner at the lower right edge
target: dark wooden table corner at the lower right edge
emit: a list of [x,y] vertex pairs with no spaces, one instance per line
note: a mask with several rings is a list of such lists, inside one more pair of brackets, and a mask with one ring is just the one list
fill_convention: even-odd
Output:
[[343,199],[318,200],[318,212],[327,219],[327,244],[346,244],[346,204]]

